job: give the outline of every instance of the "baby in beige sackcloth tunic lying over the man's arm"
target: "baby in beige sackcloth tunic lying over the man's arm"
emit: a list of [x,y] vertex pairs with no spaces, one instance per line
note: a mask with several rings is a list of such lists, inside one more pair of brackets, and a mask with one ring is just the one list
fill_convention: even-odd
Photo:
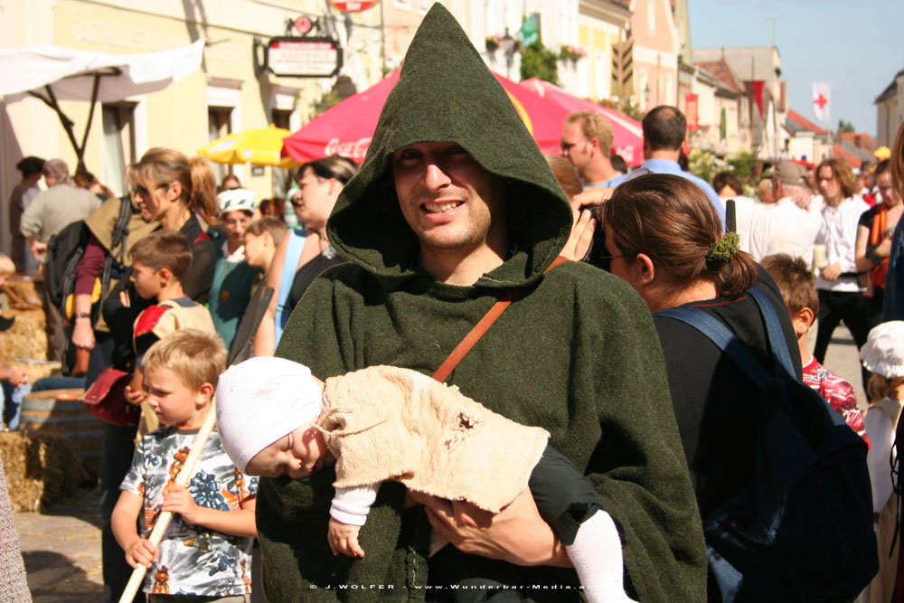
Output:
[[221,375],[216,408],[223,448],[248,475],[301,479],[335,463],[334,554],[363,557],[358,533],[384,481],[490,513],[530,486],[589,600],[630,600],[621,540],[587,478],[548,446],[544,429],[505,419],[454,386],[391,366],[321,386],[306,366],[257,357]]

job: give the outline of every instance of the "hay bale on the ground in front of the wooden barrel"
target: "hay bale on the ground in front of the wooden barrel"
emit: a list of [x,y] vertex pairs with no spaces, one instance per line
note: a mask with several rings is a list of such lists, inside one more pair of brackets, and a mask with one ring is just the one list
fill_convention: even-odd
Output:
[[86,477],[69,440],[53,433],[0,432],[0,459],[17,513],[43,511],[74,495]]

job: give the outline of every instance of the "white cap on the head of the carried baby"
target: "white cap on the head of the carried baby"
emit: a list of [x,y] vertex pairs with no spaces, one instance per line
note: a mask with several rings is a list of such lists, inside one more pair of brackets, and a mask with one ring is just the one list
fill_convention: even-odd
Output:
[[217,384],[217,429],[241,472],[261,450],[320,416],[323,393],[311,370],[285,358],[236,364]]

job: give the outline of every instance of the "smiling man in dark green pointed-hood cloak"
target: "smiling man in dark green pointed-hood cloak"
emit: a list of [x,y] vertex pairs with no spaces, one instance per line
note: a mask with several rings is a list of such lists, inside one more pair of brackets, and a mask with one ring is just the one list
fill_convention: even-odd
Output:
[[[308,288],[278,355],[321,379],[375,364],[432,374],[499,297],[520,291],[449,381],[549,430],[551,445],[589,476],[622,534],[615,544],[629,596],[702,600],[702,532],[652,320],[629,287],[597,269],[567,262],[545,272],[571,219],[504,89],[435,4],[327,224],[330,243],[351,261]],[[480,426],[462,418],[460,429]],[[580,598],[528,491],[491,522],[475,521],[481,513],[461,502],[408,508],[404,488],[386,483],[360,534],[367,554],[349,561],[316,537],[334,478],[325,469],[308,480],[261,480],[269,598],[336,584],[410,598],[428,581],[442,588],[466,579],[528,598],[550,596],[532,585],[559,585],[556,600]],[[428,559],[431,527],[452,545]],[[341,595],[320,588],[317,596]]]

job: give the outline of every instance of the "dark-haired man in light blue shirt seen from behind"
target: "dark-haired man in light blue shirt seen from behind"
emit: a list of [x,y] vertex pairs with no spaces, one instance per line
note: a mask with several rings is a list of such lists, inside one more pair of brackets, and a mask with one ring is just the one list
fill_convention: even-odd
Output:
[[[689,172],[683,171],[678,164],[681,149],[687,139],[687,120],[684,114],[675,107],[660,105],[646,114],[644,127],[644,157],[645,162],[640,166],[647,172],[654,174],[674,174],[687,178],[693,184],[700,187],[709,198],[712,206],[716,208],[722,224],[725,223],[725,203],[722,203],[708,182]],[[625,174],[609,181],[609,186],[622,184],[631,174]]]

